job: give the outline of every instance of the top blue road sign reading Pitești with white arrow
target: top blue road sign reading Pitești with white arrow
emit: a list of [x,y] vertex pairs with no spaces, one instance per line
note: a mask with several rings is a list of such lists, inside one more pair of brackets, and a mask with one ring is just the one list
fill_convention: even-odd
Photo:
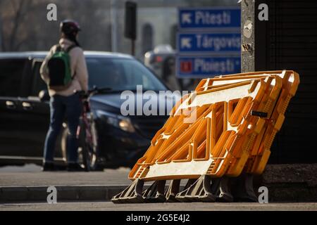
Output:
[[240,28],[240,8],[180,8],[180,28]]

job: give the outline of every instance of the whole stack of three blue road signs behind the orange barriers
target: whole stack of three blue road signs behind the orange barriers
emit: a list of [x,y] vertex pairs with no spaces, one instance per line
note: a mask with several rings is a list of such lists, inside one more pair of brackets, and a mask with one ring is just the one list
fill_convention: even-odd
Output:
[[178,17],[177,77],[241,71],[240,8],[179,8]]

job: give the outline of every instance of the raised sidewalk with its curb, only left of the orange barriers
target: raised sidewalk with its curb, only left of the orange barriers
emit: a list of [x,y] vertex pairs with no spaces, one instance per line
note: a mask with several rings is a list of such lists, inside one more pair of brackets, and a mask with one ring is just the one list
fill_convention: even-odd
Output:
[[129,169],[104,172],[0,172],[0,203],[46,201],[55,186],[58,200],[110,200],[130,184]]

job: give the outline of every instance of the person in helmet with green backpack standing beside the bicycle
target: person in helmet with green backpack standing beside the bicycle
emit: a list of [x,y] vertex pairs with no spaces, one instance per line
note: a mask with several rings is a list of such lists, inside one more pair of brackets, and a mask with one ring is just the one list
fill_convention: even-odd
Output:
[[88,72],[85,56],[77,41],[80,25],[74,20],[63,20],[61,39],[51,47],[44,59],[40,74],[49,89],[50,124],[44,143],[43,171],[54,170],[56,139],[66,117],[68,122],[67,160],[68,171],[82,171],[78,164],[76,131],[82,111],[79,94],[87,91]]

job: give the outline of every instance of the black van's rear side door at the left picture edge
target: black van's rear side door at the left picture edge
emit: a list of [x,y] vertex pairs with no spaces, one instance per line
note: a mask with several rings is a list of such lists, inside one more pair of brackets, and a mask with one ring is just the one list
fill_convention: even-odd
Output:
[[27,59],[0,60],[0,157],[23,156],[25,142],[20,124],[25,120],[19,98]]

